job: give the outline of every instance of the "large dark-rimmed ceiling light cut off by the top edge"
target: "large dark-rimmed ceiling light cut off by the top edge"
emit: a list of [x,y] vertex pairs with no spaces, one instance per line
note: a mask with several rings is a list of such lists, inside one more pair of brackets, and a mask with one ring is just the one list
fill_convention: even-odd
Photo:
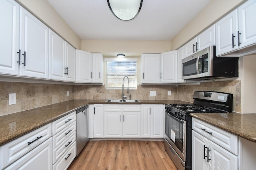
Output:
[[107,0],[107,2],[116,18],[130,21],[139,14],[143,0]]

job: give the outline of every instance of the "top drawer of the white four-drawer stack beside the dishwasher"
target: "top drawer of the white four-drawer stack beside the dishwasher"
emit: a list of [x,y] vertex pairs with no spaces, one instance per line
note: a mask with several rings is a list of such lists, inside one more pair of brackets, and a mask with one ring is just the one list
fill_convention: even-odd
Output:
[[52,136],[60,132],[62,129],[64,129],[71,123],[73,123],[75,120],[76,120],[76,111],[52,122]]

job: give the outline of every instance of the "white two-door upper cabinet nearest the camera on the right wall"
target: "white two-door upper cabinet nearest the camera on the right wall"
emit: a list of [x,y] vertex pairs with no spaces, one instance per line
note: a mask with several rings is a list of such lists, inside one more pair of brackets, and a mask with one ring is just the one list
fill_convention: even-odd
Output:
[[255,48],[242,49],[256,43],[255,9],[256,0],[248,0],[216,23],[217,56],[240,57],[256,52]]

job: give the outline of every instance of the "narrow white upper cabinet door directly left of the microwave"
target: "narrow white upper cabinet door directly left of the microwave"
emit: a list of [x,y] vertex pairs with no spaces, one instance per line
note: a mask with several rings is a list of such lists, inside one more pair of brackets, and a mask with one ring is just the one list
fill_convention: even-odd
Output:
[[182,83],[186,82],[186,80],[182,79],[182,59],[185,58],[184,55],[185,47],[182,46],[177,50],[177,82]]

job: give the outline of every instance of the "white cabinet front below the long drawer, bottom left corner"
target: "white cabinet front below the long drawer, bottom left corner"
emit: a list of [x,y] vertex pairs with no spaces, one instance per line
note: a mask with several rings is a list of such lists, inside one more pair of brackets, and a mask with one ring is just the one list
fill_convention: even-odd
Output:
[[22,156],[5,170],[34,169],[52,170],[52,138]]

